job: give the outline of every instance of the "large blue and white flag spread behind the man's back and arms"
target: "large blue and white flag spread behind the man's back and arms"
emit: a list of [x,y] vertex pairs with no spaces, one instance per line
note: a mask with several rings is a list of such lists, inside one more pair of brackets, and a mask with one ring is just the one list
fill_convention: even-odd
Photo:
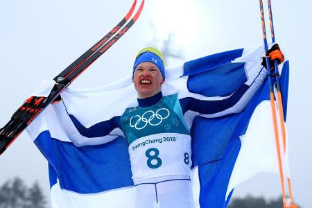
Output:
[[[261,48],[236,49],[166,69],[162,87],[165,96],[181,93],[184,98],[220,101],[232,97],[235,101],[229,109],[197,116],[191,123],[193,198],[197,207],[225,207],[237,184],[257,173],[278,173],[261,56]],[[69,138],[67,124],[58,120],[64,105],[66,113],[86,128],[112,119],[126,107],[137,105],[132,85],[129,77],[97,89],[66,89],[62,101],[49,105],[27,128],[49,162],[54,208],[135,206],[136,189],[125,139],[77,147]],[[281,71],[281,85],[286,112],[288,61]],[[53,82],[46,81],[42,86],[34,95],[49,94]],[[254,93],[247,94],[250,90]],[[287,154],[284,161],[288,175]]]

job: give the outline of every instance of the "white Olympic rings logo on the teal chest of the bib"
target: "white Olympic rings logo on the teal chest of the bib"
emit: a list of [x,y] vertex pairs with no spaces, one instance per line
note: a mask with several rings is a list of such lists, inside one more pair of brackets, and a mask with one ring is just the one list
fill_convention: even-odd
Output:
[[[162,114],[161,114],[162,113]],[[170,112],[166,108],[160,108],[156,112],[153,110],[148,110],[142,116],[135,115],[130,119],[130,126],[134,127],[136,130],[141,130],[146,127],[146,125],[159,125],[164,119],[167,119]]]

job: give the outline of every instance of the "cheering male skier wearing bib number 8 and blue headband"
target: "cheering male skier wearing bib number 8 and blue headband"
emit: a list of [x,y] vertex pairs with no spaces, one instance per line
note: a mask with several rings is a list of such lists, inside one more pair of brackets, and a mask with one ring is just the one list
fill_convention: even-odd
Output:
[[[281,52],[278,50],[281,55]],[[281,56],[277,55],[277,58]],[[85,128],[73,115],[60,114],[76,146],[105,144],[123,136],[128,141],[132,179],[137,189],[136,207],[193,207],[191,191],[190,128],[196,116],[240,112],[266,78],[263,67],[256,80],[226,99],[180,92],[163,96],[166,73],[163,56],[155,48],[139,51],[132,80],[137,106]]]

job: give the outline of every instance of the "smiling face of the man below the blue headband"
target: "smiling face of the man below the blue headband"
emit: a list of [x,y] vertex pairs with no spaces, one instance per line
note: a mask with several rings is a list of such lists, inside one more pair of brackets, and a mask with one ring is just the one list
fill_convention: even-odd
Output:
[[141,62],[135,69],[133,84],[139,98],[148,98],[162,90],[164,78],[158,67],[150,62]]

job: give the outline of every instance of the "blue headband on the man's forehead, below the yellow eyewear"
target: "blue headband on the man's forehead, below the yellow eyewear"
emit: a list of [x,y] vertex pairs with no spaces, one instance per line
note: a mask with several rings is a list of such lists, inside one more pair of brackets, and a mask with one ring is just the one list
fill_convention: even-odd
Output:
[[165,78],[165,72],[164,72],[164,62],[162,62],[162,59],[158,57],[155,53],[152,53],[150,51],[147,51],[145,53],[142,53],[139,55],[139,57],[135,60],[135,64],[133,64],[133,72],[132,77],[135,74],[135,69],[137,69],[137,66],[141,64],[141,62],[150,62],[152,64],[155,64],[160,73],[162,73],[162,77]]

